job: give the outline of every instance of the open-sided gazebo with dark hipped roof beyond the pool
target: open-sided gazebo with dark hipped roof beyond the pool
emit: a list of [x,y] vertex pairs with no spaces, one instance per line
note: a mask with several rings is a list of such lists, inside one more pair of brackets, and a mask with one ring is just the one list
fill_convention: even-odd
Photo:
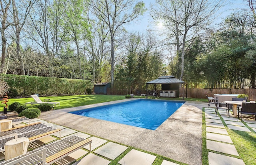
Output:
[[160,90],[159,96],[163,97],[179,97],[180,95],[180,84],[183,84],[183,100],[184,100],[184,81],[181,81],[177,79],[176,77],[170,75],[170,76],[161,76],[158,77],[158,79],[152,80],[148,83],[146,83],[146,90],[147,90],[147,96],[148,98],[148,85],[154,84],[155,90],[156,85],[161,84],[162,90]]

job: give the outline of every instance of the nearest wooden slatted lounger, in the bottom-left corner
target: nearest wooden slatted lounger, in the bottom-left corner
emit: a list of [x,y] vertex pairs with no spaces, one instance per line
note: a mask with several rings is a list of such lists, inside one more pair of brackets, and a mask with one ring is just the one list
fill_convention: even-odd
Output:
[[1,162],[0,165],[50,165],[88,144],[90,145],[91,151],[91,143],[91,139],[84,139],[73,135]]

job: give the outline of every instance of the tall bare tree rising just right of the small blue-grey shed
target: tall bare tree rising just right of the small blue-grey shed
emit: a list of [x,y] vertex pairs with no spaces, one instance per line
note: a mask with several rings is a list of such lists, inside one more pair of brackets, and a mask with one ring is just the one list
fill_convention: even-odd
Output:
[[135,0],[92,0],[92,12],[105,22],[111,39],[111,87],[114,86],[114,40],[118,29],[145,12],[144,2],[135,4]]

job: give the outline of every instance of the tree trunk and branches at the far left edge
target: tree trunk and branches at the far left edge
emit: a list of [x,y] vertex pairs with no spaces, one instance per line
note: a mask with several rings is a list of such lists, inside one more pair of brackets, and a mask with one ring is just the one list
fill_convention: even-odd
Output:
[[2,36],[2,59],[1,59],[1,66],[0,66],[0,73],[4,73],[4,67],[5,67],[5,56],[6,56],[6,37],[5,37],[5,30],[11,26],[12,24],[7,23],[7,17],[8,17],[8,10],[11,4],[11,0],[0,0],[0,6],[1,6],[1,36]]

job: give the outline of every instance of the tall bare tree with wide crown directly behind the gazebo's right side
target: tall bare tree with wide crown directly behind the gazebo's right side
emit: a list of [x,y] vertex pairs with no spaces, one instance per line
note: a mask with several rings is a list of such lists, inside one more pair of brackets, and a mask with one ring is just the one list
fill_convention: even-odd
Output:
[[175,38],[174,45],[181,58],[180,80],[183,80],[186,49],[196,35],[206,29],[220,7],[222,0],[156,0],[156,5],[152,7],[153,18],[163,20],[166,33]]

